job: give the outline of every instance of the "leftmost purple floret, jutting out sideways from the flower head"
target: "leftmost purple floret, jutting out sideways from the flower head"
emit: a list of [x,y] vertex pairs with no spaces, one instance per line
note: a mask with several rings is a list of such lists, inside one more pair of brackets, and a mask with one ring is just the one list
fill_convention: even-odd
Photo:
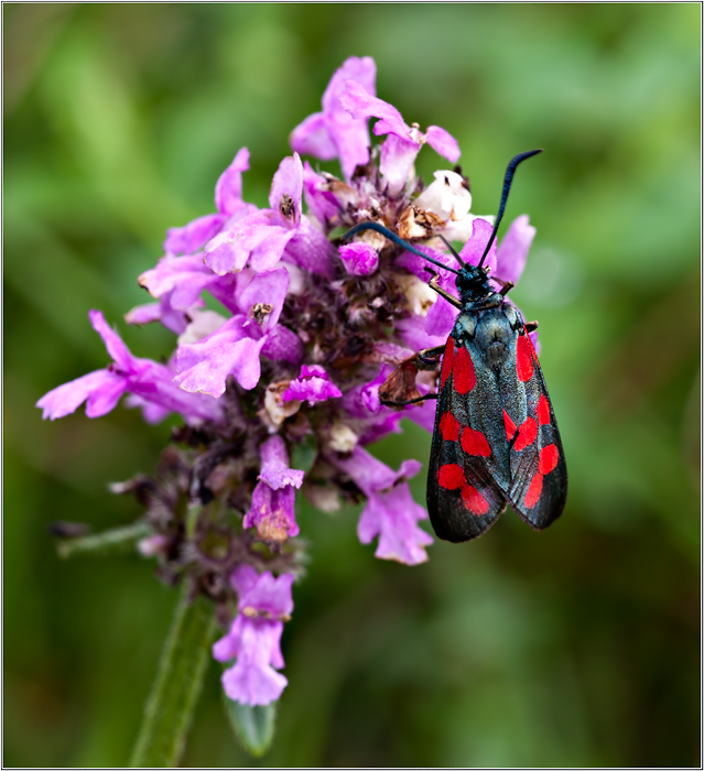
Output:
[[174,372],[169,367],[132,356],[99,311],[90,311],[88,315],[113,363],[107,369],[64,383],[42,397],[36,406],[43,410],[44,419],[64,417],[75,412],[84,401],[87,401],[88,417],[98,417],[110,412],[126,392],[167,412],[178,412],[188,421],[217,423],[223,419],[223,409],[215,400],[181,391],[172,382]]

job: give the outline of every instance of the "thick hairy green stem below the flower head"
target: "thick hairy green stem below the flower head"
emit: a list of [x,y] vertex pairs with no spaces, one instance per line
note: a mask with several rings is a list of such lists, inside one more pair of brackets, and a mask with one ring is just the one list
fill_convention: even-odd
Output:
[[215,628],[213,606],[203,597],[189,602],[188,585],[184,582],[156,680],[144,706],[130,768],[172,768],[178,763],[203,686]]

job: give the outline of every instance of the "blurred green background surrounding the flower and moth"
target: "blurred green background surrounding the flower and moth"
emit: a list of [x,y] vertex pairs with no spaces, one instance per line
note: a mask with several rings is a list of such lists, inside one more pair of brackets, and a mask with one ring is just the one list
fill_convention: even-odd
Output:
[[[306,579],[268,765],[700,764],[700,14],[696,3],[4,4],[4,765],[128,761],[175,593],[137,556],[55,556],[56,520],[132,521],[106,484],[169,425],[43,423],[104,367],[87,312],[139,356],[137,275],[213,210],[243,144],[264,205],[288,134],[349,55],[408,122],[463,149],[479,214],[517,152],[538,236],[516,301],[541,322],[570,497],[537,534],[380,562],[357,511],[302,508]],[[419,160],[426,180],[444,161]],[[512,295],[513,296],[513,295]],[[427,458],[408,425],[377,448]],[[423,474],[414,480],[424,497]],[[251,761],[213,662],[184,765]]]

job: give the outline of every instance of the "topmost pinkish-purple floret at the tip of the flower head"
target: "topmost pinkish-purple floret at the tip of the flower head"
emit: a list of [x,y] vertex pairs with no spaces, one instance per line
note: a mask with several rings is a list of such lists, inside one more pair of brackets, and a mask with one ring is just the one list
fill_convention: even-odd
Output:
[[377,66],[372,58],[350,56],[346,59],[325,89],[323,111],[308,116],[291,133],[293,150],[322,161],[339,158],[343,175],[350,180],[355,169],[369,160],[369,130],[366,119],[349,115],[340,96],[349,80],[373,95],[376,79]]

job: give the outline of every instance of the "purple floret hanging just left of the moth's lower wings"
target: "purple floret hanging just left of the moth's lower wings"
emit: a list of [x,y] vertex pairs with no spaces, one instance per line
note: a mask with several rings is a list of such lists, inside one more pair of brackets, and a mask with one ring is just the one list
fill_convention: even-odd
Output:
[[416,522],[427,519],[427,512],[411,497],[407,478],[415,476],[421,464],[404,460],[398,473],[357,446],[348,458],[333,463],[349,474],[367,496],[357,534],[361,543],[371,543],[379,536],[375,556],[394,560],[404,565],[419,565],[427,560],[425,546],[433,539]]

